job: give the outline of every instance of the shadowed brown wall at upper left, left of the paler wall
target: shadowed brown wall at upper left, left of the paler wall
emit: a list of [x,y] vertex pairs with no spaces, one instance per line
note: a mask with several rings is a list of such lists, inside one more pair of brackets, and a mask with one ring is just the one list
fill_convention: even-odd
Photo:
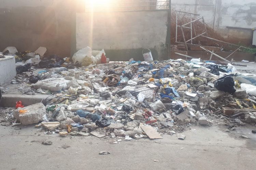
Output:
[[[75,13],[82,0],[0,0],[0,51],[47,48],[48,54],[70,56]],[[73,42],[72,42],[73,41]]]

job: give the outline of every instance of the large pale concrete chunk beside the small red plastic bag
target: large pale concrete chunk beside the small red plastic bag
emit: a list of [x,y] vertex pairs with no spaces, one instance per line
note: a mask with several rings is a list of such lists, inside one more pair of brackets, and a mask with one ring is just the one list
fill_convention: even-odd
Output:
[[[25,113],[19,112],[20,110],[24,110]],[[27,107],[18,108],[14,111],[14,117],[20,123],[24,125],[38,123],[39,121],[43,121],[43,116],[46,114],[46,109],[43,103],[32,104]]]

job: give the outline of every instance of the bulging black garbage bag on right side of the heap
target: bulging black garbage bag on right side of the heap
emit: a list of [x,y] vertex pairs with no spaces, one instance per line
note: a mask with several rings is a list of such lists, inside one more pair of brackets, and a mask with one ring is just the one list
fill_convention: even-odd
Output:
[[236,92],[236,89],[234,89],[234,79],[232,78],[233,76],[234,74],[229,74],[219,78],[214,83],[214,87],[218,90],[233,94],[234,92]]

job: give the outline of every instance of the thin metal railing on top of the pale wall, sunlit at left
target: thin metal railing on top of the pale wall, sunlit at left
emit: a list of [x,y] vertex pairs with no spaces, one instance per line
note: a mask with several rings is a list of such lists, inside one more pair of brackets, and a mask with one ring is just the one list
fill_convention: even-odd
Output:
[[169,0],[85,0],[85,12],[169,10]]

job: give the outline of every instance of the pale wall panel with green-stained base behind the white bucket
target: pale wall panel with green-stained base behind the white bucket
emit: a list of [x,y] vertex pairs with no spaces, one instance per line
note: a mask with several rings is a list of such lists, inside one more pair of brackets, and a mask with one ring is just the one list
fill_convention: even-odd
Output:
[[169,39],[168,10],[76,14],[76,49],[104,48],[111,61],[142,60],[144,48],[161,59]]

